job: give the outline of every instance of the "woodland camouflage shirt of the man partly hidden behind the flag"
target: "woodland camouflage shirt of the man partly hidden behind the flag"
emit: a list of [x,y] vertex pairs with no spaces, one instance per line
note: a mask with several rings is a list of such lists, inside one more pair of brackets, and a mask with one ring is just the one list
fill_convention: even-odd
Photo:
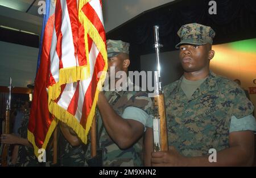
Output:
[[[113,107],[115,113],[122,115],[123,111],[128,106],[138,107],[146,111],[151,112],[152,101],[148,98],[146,92],[130,92],[130,91],[114,91],[105,92],[105,96],[109,101],[109,104]],[[98,130],[102,125],[102,119],[100,113],[97,111]],[[103,165],[105,167],[110,166],[142,166],[142,138],[133,146],[126,150],[120,150],[120,148],[113,142],[105,128],[102,130],[100,136],[100,148],[104,152]],[[90,144],[86,155],[90,156]]]

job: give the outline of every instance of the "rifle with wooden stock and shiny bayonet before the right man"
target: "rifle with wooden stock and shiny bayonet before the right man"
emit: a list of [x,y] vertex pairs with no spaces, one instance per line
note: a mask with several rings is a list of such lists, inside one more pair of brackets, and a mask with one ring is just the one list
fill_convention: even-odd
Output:
[[159,43],[159,27],[154,26],[156,61],[158,70],[155,72],[156,81],[156,95],[154,97],[154,118],[153,118],[153,130],[154,130],[154,151],[167,151],[167,127],[166,127],[166,110],[164,107],[164,93],[162,90],[162,81],[160,74],[160,47],[163,47]]

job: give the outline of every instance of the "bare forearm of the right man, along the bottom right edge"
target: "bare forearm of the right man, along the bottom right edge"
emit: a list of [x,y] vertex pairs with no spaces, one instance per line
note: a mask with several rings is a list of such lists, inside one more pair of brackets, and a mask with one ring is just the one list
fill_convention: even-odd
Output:
[[254,155],[249,155],[240,146],[234,146],[217,152],[216,161],[210,163],[209,156],[187,158],[188,166],[250,166]]

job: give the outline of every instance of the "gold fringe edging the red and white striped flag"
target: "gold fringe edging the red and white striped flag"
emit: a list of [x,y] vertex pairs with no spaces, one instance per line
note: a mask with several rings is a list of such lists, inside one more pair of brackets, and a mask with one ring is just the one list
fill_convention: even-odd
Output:
[[[55,127],[57,126],[57,119],[60,121],[66,123],[69,127],[71,127],[76,133],[77,136],[82,140],[83,143],[87,143],[87,135],[89,133],[90,127],[92,126],[93,117],[95,114],[96,104],[98,100],[98,93],[102,90],[102,85],[106,78],[106,71],[108,69],[108,53],[106,51],[106,44],[104,40],[101,38],[100,34],[98,33],[97,29],[93,26],[93,24],[90,22],[90,20],[85,16],[85,14],[82,12],[82,7],[90,2],[90,0],[80,0],[79,1],[79,20],[80,23],[84,26],[84,40],[85,40],[85,53],[86,53],[86,59],[87,64],[81,67],[71,67],[71,68],[63,68],[59,71],[59,82],[56,82],[56,84],[48,87],[48,108],[49,112],[53,115],[55,115],[55,119],[53,119],[51,126],[48,129],[46,138],[44,140],[42,148],[46,149],[47,144],[49,142],[49,138],[51,137],[53,131],[55,130]],[[104,62],[104,70],[101,73],[100,79],[98,81],[96,93],[93,100],[92,108],[90,109],[90,113],[88,115],[85,129],[84,127],[79,123],[77,118],[75,118],[74,115],[70,114],[67,110],[63,109],[63,107],[60,107],[57,105],[57,103],[54,101],[60,96],[61,92],[61,85],[68,84],[72,82],[77,82],[79,80],[86,80],[90,77],[90,64],[89,64],[89,49],[88,49],[88,43],[87,43],[87,35],[89,34],[90,38],[92,38],[94,44],[96,44],[97,49],[100,51]],[[40,153],[38,153],[39,148],[35,144],[35,138],[33,133],[28,131],[28,140],[33,144],[34,146],[34,152],[36,156],[39,156]]]

